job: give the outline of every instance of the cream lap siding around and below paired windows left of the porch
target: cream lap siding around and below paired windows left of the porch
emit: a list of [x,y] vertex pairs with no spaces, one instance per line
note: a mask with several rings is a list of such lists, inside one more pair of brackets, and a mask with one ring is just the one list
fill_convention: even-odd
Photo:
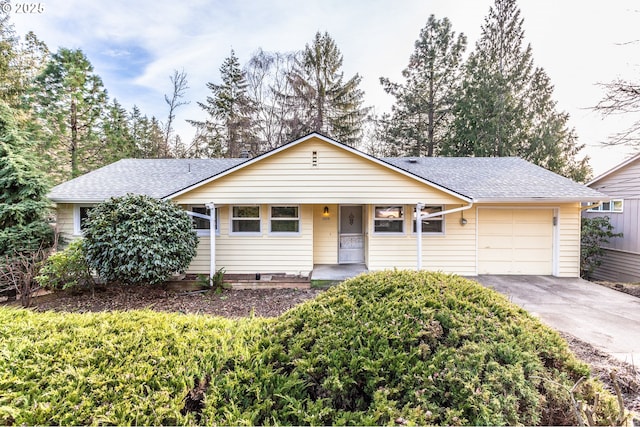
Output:
[[[230,206],[220,209],[220,235],[216,236],[216,268],[227,273],[286,273],[307,275],[313,269],[313,207],[300,206],[300,233],[269,232],[269,206],[261,206],[259,235],[229,235]],[[200,238],[199,253],[190,273],[209,273],[209,239]]]

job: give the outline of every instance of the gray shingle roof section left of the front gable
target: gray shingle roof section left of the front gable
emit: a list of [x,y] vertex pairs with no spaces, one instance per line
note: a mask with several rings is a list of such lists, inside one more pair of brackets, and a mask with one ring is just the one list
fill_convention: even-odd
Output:
[[55,186],[54,202],[98,202],[127,193],[163,198],[247,159],[123,159]]

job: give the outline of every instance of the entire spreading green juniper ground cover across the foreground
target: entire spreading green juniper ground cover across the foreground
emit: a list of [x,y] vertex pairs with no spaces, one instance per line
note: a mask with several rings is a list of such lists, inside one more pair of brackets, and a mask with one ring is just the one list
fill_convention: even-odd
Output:
[[415,272],[274,319],[3,308],[0,353],[0,424],[575,424],[588,375],[504,297]]

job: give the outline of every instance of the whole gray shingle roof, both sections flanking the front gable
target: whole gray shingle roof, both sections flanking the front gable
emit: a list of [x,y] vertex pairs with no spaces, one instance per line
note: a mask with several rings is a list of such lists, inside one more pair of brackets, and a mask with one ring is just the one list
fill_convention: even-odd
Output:
[[[476,201],[608,197],[517,157],[383,158],[385,163]],[[163,198],[247,159],[124,159],[54,187],[49,198],[98,202],[127,193]]]

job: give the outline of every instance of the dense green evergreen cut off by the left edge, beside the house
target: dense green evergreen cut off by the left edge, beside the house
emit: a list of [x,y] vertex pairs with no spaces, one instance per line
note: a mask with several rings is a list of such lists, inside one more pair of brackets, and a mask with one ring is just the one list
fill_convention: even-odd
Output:
[[0,256],[52,243],[53,230],[45,222],[49,202],[41,170],[14,112],[0,101]]

